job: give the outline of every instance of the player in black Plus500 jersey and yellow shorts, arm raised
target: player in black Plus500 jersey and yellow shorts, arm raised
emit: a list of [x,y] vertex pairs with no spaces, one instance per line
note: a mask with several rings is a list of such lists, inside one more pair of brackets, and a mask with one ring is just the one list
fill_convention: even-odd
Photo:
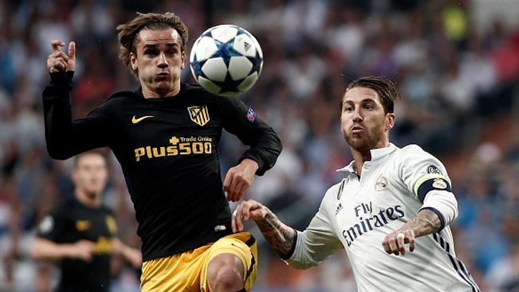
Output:
[[[143,291],[248,291],[257,250],[233,234],[227,200],[238,201],[275,164],[275,131],[237,98],[181,83],[188,28],[175,14],[138,14],[118,26],[120,59],[140,87],[109,97],[71,121],[75,43],[52,41],[43,93],[48,153],[66,159],[108,146],[125,175],[143,245]],[[226,129],[250,146],[224,182],[219,142]],[[224,193],[227,193],[227,197]]]

